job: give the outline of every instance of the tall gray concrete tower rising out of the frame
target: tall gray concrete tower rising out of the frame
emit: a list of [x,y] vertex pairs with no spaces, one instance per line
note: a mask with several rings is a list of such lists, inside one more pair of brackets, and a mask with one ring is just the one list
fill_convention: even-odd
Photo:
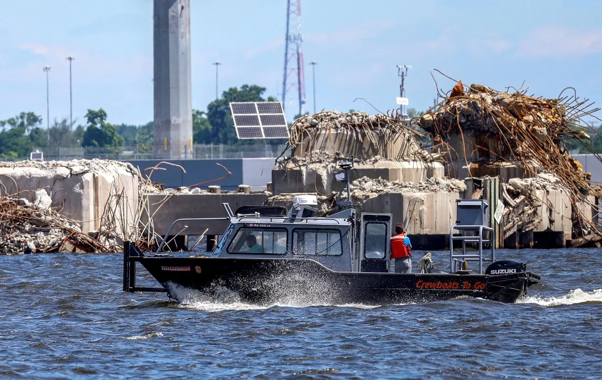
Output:
[[153,43],[154,156],[192,158],[190,0],[154,0]]

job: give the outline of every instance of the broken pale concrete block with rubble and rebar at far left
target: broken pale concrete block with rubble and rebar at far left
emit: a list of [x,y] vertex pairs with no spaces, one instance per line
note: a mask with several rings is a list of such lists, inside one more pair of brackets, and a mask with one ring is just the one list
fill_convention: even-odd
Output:
[[144,186],[129,163],[0,162],[0,252],[116,252],[137,234]]

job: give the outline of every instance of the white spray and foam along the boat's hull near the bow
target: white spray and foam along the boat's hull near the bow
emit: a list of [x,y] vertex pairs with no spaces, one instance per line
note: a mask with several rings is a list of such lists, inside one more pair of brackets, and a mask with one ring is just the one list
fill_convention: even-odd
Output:
[[205,311],[207,313],[216,313],[225,310],[266,310],[273,307],[291,307],[302,308],[312,306],[335,306],[356,309],[373,309],[380,307],[379,305],[364,305],[364,304],[344,304],[344,305],[327,305],[320,303],[296,302],[293,299],[283,300],[273,305],[253,305],[241,302],[240,296],[235,291],[226,287],[216,287],[212,294],[202,293],[198,290],[181,287],[177,284],[169,284],[170,294],[177,299],[182,308]]

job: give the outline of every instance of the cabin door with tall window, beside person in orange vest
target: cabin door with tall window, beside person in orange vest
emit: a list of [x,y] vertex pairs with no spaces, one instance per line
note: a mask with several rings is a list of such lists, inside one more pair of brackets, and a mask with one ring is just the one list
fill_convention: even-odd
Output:
[[359,271],[389,272],[392,214],[362,213]]

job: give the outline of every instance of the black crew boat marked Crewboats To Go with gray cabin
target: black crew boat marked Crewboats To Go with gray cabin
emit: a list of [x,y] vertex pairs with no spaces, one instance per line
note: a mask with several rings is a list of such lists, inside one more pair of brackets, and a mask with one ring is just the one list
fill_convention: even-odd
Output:
[[[248,206],[234,214],[228,204],[223,204],[230,225],[209,257],[161,253],[164,243],[154,254],[144,254],[135,243],[126,241],[123,290],[163,291],[179,302],[179,288],[209,296],[226,288],[236,292],[240,301],[258,305],[291,301],[385,305],[459,296],[515,302],[530,285],[541,282],[540,276],[527,271],[524,263],[495,261],[493,229],[483,225],[487,207],[483,200],[458,201],[458,219],[472,222],[459,223],[450,230],[450,273],[429,273],[429,266],[423,266],[426,273],[389,273],[391,214],[362,213],[356,217],[349,188],[353,163],[340,163],[339,167],[344,171],[337,175],[343,182],[338,204],[344,210],[331,216],[314,216],[317,198],[312,195],[297,196],[291,210]],[[345,188],[347,200],[341,201]],[[163,241],[181,221],[172,223]],[[454,231],[461,234],[454,235]],[[466,231],[473,233],[466,235]],[[457,240],[462,241],[461,253],[453,251],[453,241]],[[478,251],[469,254],[467,243],[476,243]],[[483,243],[491,245],[486,257]],[[477,273],[467,269],[468,261],[478,262]],[[483,272],[486,262],[489,265]],[[161,287],[137,287],[136,263]]]

